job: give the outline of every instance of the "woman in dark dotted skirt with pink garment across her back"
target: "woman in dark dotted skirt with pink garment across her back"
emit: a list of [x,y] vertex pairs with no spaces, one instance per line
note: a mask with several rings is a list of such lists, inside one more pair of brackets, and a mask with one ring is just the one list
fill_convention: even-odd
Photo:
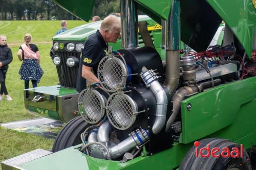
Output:
[[32,81],[33,87],[37,87],[44,72],[40,67],[40,54],[37,46],[30,43],[32,40],[31,34],[25,34],[25,43],[19,47],[18,58],[23,61],[20,66],[20,80],[25,80],[25,89],[29,88],[29,81]]

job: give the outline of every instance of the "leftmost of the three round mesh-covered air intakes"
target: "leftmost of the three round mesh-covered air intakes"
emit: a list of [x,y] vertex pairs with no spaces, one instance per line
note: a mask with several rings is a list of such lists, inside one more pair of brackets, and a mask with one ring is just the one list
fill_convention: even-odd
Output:
[[105,113],[106,98],[95,89],[84,89],[78,97],[78,109],[86,122],[96,124]]

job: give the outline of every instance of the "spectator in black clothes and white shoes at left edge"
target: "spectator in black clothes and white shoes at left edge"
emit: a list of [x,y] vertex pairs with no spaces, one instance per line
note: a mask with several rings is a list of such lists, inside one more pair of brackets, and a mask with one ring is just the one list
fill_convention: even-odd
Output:
[[3,100],[3,94],[6,95],[7,101],[12,101],[11,96],[8,94],[5,79],[7,75],[8,70],[8,64],[12,62],[12,51],[8,47],[7,38],[5,35],[0,35],[0,83],[1,83],[1,89],[0,89],[0,101]]

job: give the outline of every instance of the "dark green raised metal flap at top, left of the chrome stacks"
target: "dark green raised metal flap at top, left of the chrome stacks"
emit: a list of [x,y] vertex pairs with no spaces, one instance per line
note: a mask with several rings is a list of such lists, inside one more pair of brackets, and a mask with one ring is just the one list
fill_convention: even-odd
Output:
[[53,2],[63,9],[66,9],[68,12],[73,15],[83,19],[90,20],[92,16],[92,10],[94,7],[95,0],[87,1],[63,1],[63,0],[53,0]]

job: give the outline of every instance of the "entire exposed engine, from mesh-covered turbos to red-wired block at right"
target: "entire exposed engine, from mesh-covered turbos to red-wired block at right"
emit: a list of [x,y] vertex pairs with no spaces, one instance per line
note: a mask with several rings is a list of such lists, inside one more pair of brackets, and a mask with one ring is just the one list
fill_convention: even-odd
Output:
[[243,79],[241,68],[245,67],[235,53],[231,45],[214,46],[177,58],[179,81],[172,92],[164,82],[169,77],[165,62],[154,48],[110,52],[98,66],[100,83],[84,89],[78,98],[79,112],[91,125],[81,134],[81,152],[100,159],[127,160],[143,147],[148,155],[173,147],[182,132],[184,99]]

